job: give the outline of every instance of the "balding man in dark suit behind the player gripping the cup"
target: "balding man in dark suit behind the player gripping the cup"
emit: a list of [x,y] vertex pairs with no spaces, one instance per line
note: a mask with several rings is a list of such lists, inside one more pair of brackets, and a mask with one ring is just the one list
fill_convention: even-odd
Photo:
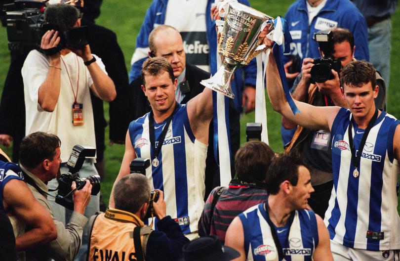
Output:
[[[208,79],[210,74],[200,68],[186,63],[186,54],[183,48],[182,37],[179,32],[172,26],[160,25],[154,29],[149,35],[150,57],[164,57],[174,70],[174,76],[178,79],[178,88],[175,92],[176,100],[185,104],[197,94],[202,92],[204,86],[200,84],[201,80]],[[151,109],[150,103],[142,90],[143,81],[140,77],[133,80],[130,84],[130,102],[129,110],[131,120],[135,120],[148,113]],[[234,109],[233,102],[230,102],[230,109]],[[230,121],[234,121],[233,117],[239,115],[230,114]],[[236,119],[239,122],[239,119]],[[240,130],[231,130],[235,135],[239,135]],[[208,150],[205,168],[205,195],[218,186],[219,167],[214,160],[213,144],[213,124],[211,121],[208,133]],[[239,144],[235,145],[239,148]]]

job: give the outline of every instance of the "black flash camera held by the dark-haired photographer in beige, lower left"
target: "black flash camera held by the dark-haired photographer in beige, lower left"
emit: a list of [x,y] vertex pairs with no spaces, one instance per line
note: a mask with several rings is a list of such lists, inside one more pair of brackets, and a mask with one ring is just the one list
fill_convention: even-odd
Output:
[[90,175],[87,178],[80,178],[79,171],[82,168],[83,162],[86,157],[94,157],[96,155],[96,149],[86,145],[75,145],[72,148],[70,158],[68,159],[68,174],[61,174],[60,180],[58,181],[58,191],[55,202],[67,209],[74,210],[74,201],[72,201],[72,193],[74,190],[71,189],[72,182],[75,181],[77,184],[77,190],[84,187],[86,180],[89,180],[92,184],[92,195],[97,195],[100,191],[100,176]]

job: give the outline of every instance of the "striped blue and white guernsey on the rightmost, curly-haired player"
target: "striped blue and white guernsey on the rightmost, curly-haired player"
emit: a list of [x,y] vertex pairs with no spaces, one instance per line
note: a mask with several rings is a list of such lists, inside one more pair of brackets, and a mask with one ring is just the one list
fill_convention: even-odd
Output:
[[[360,175],[353,176],[348,127],[351,112],[340,109],[332,125],[334,187],[324,222],[330,239],[346,247],[371,251],[400,249],[394,173],[394,132],[400,122],[385,112],[375,121],[361,154]],[[353,140],[360,146],[363,129],[354,123]]]

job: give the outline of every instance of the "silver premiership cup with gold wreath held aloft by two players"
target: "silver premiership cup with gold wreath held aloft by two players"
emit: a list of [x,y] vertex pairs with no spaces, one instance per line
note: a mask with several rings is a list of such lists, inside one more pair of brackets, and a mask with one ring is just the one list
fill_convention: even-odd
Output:
[[273,18],[239,2],[230,2],[225,16],[223,32],[218,35],[218,54],[221,66],[208,80],[205,87],[234,98],[230,87],[231,78],[239,66],[247,65],[257,54],[266,49],[258,40],[263,24],[273,29]]

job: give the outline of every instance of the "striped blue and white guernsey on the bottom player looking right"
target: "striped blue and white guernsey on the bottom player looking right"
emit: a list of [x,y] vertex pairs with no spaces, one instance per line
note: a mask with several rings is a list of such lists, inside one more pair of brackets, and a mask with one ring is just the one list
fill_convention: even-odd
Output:
[[[311,261],[318,246],[318,228],[314,212],[295,211],[277,235],[286,261]],[[268,224],[264,203],[249,208],[239,215],[244,232],[244,253],[249,261],[280,261],[271,227]],[[277,227],[272,229],[277,230]],[[289,231],[289,236],[287,236]],[[285,233],[286,232],[286,233]]]

